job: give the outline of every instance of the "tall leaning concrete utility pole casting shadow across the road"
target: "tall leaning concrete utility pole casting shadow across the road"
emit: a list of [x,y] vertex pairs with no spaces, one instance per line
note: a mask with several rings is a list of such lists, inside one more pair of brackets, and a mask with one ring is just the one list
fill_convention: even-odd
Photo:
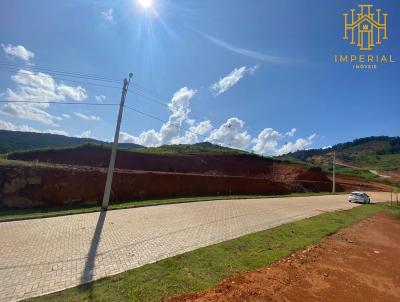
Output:
[[125,98],[126,98],[126,94],[128,93],[128,87],[129,87],[131,78],[132,78],[132,73],[129,74],[129,80],[124,79],[124,87],[122,88],[121,103],[119,104],[117,127],[115,128],[114,143],[112,145],[110,164],[108,166],[108,171],[107,171],[106,187],[104,189],[103,202],[101,204],[101,208],[104,211],[107,210],[108,203],[110,201],[112,177],[113,177],[113,173],[114,173],[115,158],[117,156],[119,130],[121,128],[122,113],[124,112]]

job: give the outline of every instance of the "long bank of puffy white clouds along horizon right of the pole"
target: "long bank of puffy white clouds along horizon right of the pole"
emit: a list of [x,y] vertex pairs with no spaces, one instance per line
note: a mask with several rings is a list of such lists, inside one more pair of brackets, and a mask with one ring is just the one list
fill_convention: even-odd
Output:
[[[171,111],[167,122],[159,131],[151,129],[143,131],[139,136],[121,132],[120,142],[135,143],[147,147],[164,144],[193,144],[199,141],[209,141],[231,148],[253,150],[260,155],[281,155],[288,152],[307,149],[313,144],[315,134],[308,138],[299,138],[295,142],[282,144],[282,139],[288,139],[296,134],[296,128],[280,133],[272,128],[265,128],[256,138],[245,130],[245,122],[237,117],[229,118],[220,127],[213,130],[211,121],[197,122],[189,117],[190,100],[196,91],[183,87],[175,92],[168,107]],[[186,131],[181,128],[188,125]],[[208,137],[205,138],[205,135]],[[205,138],[205,139],[204,139]]]

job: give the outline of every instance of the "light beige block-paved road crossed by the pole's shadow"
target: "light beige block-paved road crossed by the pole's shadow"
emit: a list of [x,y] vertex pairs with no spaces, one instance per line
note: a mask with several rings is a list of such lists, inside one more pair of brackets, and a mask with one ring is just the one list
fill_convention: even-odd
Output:
[[[374,193],[384,201],[387,193]],[[219,200],[0,223],[0,301],[59,291],[283,223],[346,196]]]

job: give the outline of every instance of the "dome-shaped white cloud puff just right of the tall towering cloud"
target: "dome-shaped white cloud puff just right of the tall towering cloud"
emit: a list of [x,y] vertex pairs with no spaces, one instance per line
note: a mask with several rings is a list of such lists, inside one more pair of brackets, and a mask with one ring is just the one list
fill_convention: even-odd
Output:
[[251,136],[244,130],[244,121],[237,117],[229,118],[207,138],[212,143],[243,149],[251,142]]

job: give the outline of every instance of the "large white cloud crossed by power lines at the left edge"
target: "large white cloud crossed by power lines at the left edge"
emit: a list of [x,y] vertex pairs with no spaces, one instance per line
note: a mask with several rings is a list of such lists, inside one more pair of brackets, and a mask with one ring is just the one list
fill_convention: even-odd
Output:
[[[62,120],[62,118],[53,116],[46,111],[50,107],[49,102],[63,102],[67,99],[81,101],[87,98],[84,88],[57,83],[50,75],[41,72],[35,73],[20,69],[11,79],[16,84],[16,88],[14,90],[7,89],[4,98],[17,103],[7,103],[1,106],[0,113],[20,119],[57,126],[55,121]],[[39,103],[18,103],[21,101]]]

